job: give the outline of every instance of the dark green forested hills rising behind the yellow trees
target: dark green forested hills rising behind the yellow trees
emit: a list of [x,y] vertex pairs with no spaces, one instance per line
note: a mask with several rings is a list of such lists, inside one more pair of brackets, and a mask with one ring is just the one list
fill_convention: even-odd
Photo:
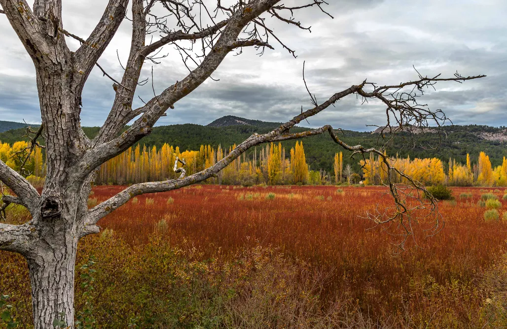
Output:
[[[266,133],[278,125],[276,122],[225,116],[213,121],[208,126],[185,124],[155,127],[152,134],[143,138],[140,143],[147,146],[156,145],[157,147],[168,143],[178,146],[180,150],[198,150],[201,144],[209,144],[213,147],[222,145],[222,147],[228,148],[235,143],[239,144],[255,132]],[[98,132],[96,127],[83,129],[90,138]],[[291,131],[303,130],[304,128],[294,128]],[[0,133],[0,141],[12,144],[15,141],[22,140],[23,134],[23,129]],[[378,134],[345,130],[343,134],[340,134],[340,137],[349,145],[361,144],[369,147],[377,143]],[[387,135],[387,137],[389,136]],[[382,139],[379,140],[379,144],[383,142]],[[296,141],[288,141],[283,142],[282,145],[288,151],[288,149],[294,147],[295,143]],[[331,171],[335,153],[342,151],[329,135],[306,138],[303,140],[303,144],[307,162],[312,170],[325,169]],[[439,147],[436,149],[429,147],[437,145]],[[400,157],[406,157],[407,155],[410,155],[411,158],[438,157],[444,163],[447,163],[449,158],[455,158],[456,161],[464,163],[466,153],[469,153],[471,160],[475,162],[481,151],[489,155],[493,166],[501,165],[503,156],[507,156],[507,129],[477,125],[449,126],[444,127],[440,134],[434,129],[428,129],[424,134],[396,137],[394,143],[388,149],[388,153],[391,155],[397,153]],[[354,165],[354,169],[358,171],[357,162],[360,157],[356,155],[355,159],[350,159],[349,155],[349,152],[344,152],[344,163],[351,163]]]

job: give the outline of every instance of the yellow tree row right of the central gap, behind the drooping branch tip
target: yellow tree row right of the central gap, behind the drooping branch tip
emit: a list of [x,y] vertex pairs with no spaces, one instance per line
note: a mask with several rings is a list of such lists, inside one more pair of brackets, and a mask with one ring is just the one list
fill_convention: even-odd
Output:
[[[382,157],[375,156],[373,153],[370,154],[369,159],[361,160],[360,165],[363,169],[364,183],[367,185],[385,183],[388,174],[395,183],[407,183],[407,180],[399,174],[387,173],[387,166]],[[465,164],[449,159],[447,174],[442,161],[437,158],[411,159],[396,156],[389,160],[389,165],[425,185],[507,186],[507,159],[503,157],[502,165],[493,169],[489,156],[484,152],[480,152],[478,162],[473,165],[469,154],[466,154]],[[341,164],[336,161],[335,156],[335,173],[337,166]]]

